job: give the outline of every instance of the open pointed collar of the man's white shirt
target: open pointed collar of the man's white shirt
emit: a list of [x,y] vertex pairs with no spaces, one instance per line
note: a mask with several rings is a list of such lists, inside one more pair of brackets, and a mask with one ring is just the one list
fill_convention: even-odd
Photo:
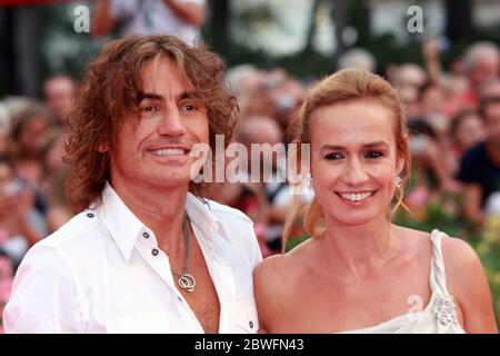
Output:
[[[109,182],[102,191],[102,206],[97,210],[126,260],[129,260],[141,234],[153,235],[152,230],[127,207]],[[188,192],[186,210],[191,222],[203,231],[203,238],[211,244],[219,230],[220,221],[210,210],[209,201]]]

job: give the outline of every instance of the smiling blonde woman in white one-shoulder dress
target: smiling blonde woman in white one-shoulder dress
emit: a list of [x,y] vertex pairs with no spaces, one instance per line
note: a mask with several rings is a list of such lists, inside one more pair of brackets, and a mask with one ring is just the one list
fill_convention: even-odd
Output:
[[[461,239],[391,224],[410,171],[394,89],[342,70],[310,91],[297,141],[310,144],[312,236],[254,270],[268,333],[497,333],[488,281]],[[286,229],[287,230],[287,229]]]

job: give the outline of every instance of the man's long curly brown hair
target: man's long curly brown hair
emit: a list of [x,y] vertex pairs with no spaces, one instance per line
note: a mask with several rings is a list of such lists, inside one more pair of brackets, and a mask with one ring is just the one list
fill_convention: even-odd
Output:
[[[219,56],[204,44],[194,48],[171,36],[131,36],[111,41],[89,63],[69,117],[64,160],[71,169],[66,194],[76,212],[101,202],[123,122],[140,118],[141,69],[159,57],[176,62],[192,85],[196,99],[206,105],[212,151],[216,135],[224,135],[229,145],[238,106],[224,83],[226,65]],[[109,147],[106,152],[99,150],[103,145]],[[203,188],[203,184],[190,182],[190,191],[197,195]]]

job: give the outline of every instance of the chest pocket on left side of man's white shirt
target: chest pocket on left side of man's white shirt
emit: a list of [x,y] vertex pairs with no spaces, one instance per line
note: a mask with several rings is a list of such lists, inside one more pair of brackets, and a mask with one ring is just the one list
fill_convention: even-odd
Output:
[[106,320],[108,334],[167,334],[169,323],[161,312],[127,315]]

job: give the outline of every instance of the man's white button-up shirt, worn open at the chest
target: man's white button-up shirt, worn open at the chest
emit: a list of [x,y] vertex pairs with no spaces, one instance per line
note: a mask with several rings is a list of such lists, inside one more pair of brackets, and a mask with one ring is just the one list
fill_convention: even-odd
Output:
[[[241,211],[188,194],[186,211],[220,301],[220,333],[257,333],[252,270],[262,260]],[[3,313],[7,333],[203,333],[168,256],[107,185],[24,257]]]

